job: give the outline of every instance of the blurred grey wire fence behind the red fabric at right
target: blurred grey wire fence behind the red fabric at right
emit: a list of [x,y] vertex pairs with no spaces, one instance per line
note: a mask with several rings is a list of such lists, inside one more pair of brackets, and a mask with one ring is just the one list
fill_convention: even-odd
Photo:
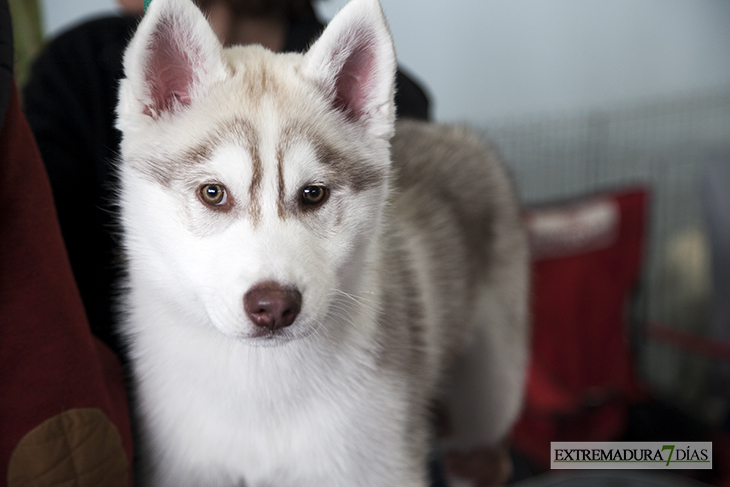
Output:
[[715,414],[716,401],[705,401],[711,362],[640,337],[653,322],[706,330],[711,267],[698,180],[706,161],[730,156],[730,86],[480,129],[502,152],[527,205],[637,184],[650,189],[641,312],[630,330],[641,374],[655,392]]

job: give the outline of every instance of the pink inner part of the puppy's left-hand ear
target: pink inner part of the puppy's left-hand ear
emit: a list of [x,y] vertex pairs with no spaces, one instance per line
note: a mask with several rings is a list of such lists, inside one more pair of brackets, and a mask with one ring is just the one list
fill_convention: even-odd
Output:
[[145,80],[152,99],[147,107],[152,114],[173,112],[176,107],[190,104],[190,93],[196,81],[194,65],[200,52],[183,29],[176,29],[174,20],[164,19],[152,34]]

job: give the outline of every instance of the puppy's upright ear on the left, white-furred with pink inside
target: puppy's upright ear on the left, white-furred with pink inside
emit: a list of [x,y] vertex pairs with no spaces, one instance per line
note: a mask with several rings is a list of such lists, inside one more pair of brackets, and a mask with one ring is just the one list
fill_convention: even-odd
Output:
[[191,0],[155,0],[129,43],[124,74],[120,116],[126,108],[156,119],[225,75],[222,46]]

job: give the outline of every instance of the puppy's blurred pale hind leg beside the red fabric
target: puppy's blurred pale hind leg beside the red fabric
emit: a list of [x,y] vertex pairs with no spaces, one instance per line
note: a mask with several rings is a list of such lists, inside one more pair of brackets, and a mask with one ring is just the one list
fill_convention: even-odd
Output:
[[512,473],[509,434],[522,406],[529,353],[524,262],[493,270],[445,398],[452,433],[447,470],[479,487],[503,485]]

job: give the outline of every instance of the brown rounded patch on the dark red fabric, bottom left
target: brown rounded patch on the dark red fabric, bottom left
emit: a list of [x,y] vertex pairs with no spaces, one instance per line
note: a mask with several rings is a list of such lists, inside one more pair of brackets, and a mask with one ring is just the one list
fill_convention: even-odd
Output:
[[71,409],[41,423],[18,443],[8,487],[128,485],[122,439],[106,414]]

